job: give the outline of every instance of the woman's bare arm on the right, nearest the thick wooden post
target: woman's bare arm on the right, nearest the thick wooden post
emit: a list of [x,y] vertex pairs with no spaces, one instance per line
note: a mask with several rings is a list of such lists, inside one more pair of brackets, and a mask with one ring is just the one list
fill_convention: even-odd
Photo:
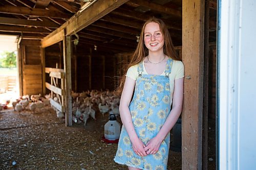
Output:
[[152,138],[145,147],[145,151],[147,154],[155,154],[157,153],[161,142],[165,138],[165,136],[169,133],[169,131],[173,128],[176,124],[181,110],[182,110],[182,103],[183,103],[183,82],[184,78],[174,80],[174,93],[173,93],[173,108],[170,111],[170,114],[165,120],[162,128],[158,132],[157,136]]

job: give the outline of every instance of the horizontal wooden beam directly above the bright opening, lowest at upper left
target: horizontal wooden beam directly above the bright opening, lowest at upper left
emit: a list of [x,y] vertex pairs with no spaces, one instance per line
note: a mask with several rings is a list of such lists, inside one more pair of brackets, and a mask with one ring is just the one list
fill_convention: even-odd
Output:
[[7,25],[0,25],[0,31],[6,32],[22,32],[22,33],[44,33],[49,34],[50,31],[44,28],[26,28],[20,26],[7,26]]

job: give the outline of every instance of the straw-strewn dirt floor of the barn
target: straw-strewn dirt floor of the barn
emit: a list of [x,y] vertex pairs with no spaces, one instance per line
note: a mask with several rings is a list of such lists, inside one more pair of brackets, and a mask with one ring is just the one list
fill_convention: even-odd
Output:
[[[108,116],[96,118],[66,127],[50,107],[0,111],[0,169],[127,169],[113,161],[117,144],[101,140]],[[215,124],[209,127],[208,169],[216,169]],[[181,169],[180,152],[169,152],[168,169]]]

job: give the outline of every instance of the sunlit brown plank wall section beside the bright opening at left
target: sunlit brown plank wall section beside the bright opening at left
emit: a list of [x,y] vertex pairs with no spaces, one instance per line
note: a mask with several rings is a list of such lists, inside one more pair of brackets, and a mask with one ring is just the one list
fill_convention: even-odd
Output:
[[23,94],[42,93],[40,40],[21,40]]

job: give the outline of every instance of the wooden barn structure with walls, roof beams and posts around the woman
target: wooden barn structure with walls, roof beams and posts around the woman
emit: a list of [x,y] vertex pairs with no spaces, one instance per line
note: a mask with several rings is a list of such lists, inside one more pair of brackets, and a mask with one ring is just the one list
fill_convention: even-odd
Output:
[[20,95],[58,94],[51,104],[72,126],[71,91],[114,90],[151,17],[166,23],[185,66],[182,169],[207,169],[208,119],[216,119],[216,0],[3,0],[0,34],[17,36]]

